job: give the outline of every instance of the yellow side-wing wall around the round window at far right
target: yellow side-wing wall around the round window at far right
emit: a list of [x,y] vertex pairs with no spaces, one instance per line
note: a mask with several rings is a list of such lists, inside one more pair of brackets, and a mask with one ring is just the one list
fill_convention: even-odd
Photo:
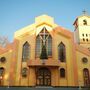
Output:
[[[79,51],[76,52],[77,54],[77,64],[78,64],[78,77],[79,77],[79,80],[78,80],[78,83],[79,83],[79,86],[83,86],[84,85],[84,80],[83,80],[83,69],[84,68],[88,68],[89,71],[90,71],[90,56],[87,56]],[[82,62],[82,58],[83,57],[86,57],[88,59],[88,63],[83,63]]]

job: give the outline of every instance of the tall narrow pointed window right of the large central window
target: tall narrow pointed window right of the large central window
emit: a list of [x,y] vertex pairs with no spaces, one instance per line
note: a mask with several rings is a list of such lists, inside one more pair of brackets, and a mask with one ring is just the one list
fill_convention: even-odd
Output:
[[66,61],[66,48],[65,48],[65,45],[62,42],[58,46],[58,59],[61,62]]

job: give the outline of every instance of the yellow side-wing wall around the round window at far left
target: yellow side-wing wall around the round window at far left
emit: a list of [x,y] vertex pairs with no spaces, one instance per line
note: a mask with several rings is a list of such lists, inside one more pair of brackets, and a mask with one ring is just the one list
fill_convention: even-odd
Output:
[[4,67],[5,69],[5,74],[4,74],[4,85],[5,86],[8,86],[9,85],[9,75],[10,75],[10,64],[11,64],[11,61],[12,61],[12,50],[9,50],[7,52],[5,52],[4,54],[1,54],[0,55],[0,58],[1,57],[5,57],[6,58],[6,61],[1,63],[0,62],[0,67]]

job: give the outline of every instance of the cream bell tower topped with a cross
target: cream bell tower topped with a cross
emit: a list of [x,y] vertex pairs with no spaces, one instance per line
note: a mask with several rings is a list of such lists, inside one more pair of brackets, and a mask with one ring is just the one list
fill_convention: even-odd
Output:
[[76,18],[73,25],[76,43],[90,49],[90,16],[86,14],[86,11]]

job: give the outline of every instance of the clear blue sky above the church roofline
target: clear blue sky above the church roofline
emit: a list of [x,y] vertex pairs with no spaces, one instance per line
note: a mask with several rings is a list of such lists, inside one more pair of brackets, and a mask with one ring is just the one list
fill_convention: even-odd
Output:
[[55,23],[74,31],[73,22],[90,15],[90,0],[0,0],[0,35],[12,42],[14,32],[34,23],[35,17],[47,14]]

